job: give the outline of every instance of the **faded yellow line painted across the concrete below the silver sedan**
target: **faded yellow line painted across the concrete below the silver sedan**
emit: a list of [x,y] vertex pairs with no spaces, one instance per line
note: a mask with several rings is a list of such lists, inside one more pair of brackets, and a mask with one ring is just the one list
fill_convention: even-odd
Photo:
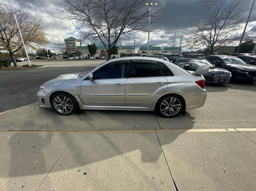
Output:
[[14,130],[0,131],[0,133],[150,133],[150,132],[236,132],[256,131],[256,128],[220,128],[220,129],[125,129],[125,130]]

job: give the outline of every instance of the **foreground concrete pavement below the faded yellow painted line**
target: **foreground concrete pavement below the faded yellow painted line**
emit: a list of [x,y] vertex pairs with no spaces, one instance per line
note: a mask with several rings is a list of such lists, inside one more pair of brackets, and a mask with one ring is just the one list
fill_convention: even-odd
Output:
[[6,191],[256,187],[255,142],[240,132],[23,131],[0,139]]

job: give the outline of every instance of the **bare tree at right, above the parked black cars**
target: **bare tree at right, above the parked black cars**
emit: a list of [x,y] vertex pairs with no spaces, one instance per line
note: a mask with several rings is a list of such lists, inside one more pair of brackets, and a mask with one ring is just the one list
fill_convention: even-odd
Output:
[[246,18],[244,5],[242,0],[208,0],[202,19],[196,16],[192,22],[190,47],[205,48],[212,54],[237,41],[241,37],[238,30]]

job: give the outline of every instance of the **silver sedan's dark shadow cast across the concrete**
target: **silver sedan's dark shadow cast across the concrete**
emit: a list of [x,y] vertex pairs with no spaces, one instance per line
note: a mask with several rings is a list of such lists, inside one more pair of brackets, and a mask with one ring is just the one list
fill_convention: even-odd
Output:
[[[20,123],[19,128],[23,130],[28,127],[30,127],[30,130],[72,130],[73,133],[81,130],[70,142],[63,157],[52,169],[53,172],[65,169],[75,169],[77,171],[84,165],[121,156],[124,161],[129,163],[130,167],[135,171],[140,171],[143,175],[144,172],[140,170],[138,163],[132,161],[126,154],[139,150],[142,162],[157,163],[162,156],[157,136],[158,130],[161,131],[161,128],[174,130],[166,143],[171,144],[180,134],[193,128],[195,123],[194,117],[187,112],[185,116],[180,114],[175,118],[161,118],[156,116],[154,112],[140,111],[80,111],[71,116],[60,116],[53,113],[52,110],[40,111],[43,111],[43,113],[39,114],[35,111],[28,116],[25,122]],[[41,115],[41,120],[38,121],[33,115]],[[43,115],[46,115],[48,121],[45,120]],[[184,130],[175,131],[181,128]],[[90,130],[93,130],[93,132],[90,132]],[[56,134],[58,136],[57,140],[62,143],[71,140],[70,133]],[[49,164],[46,164],[48,158],[46,150],[50,149],[49,146],[53,146],[52,141],[54,141],[54,144],[58,144],[51,132],[46,135],[41,135],[38,132],[15,133],[10,136],[10,170],[7,176],[17,177],[48,173],[46,167]],[[17,144],[17,142],[22,142],[22,144]],[[34,145],[36,145],[36,150],[32,148]],[[30,159],[26,160],[28,157]],[[66,158],[68,158],[68,161],[65,161]],[[31,166],[33,161],[40,162],[40,165]],[[17,166],[18,168],[16,168]],[[120,168],[122,167],[120,166]]]

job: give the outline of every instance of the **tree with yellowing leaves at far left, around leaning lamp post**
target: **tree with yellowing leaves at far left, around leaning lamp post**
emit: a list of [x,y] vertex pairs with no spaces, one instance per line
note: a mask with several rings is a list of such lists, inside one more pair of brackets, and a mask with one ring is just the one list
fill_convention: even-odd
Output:
[[22,7],[15,7],[10,3],[0,2],[0,48],[9,52],[14,66],[17,63],[14,59],[14,53],[20,51],[22,42],[18,33],[18,27],[14,16],[10,12],[19,12],[17,21],[22,32],[24,43],[34,48],[35,44],[44,43],[44,38],[41,32],[42,20],[29,20],[28,12],[24,12]]

